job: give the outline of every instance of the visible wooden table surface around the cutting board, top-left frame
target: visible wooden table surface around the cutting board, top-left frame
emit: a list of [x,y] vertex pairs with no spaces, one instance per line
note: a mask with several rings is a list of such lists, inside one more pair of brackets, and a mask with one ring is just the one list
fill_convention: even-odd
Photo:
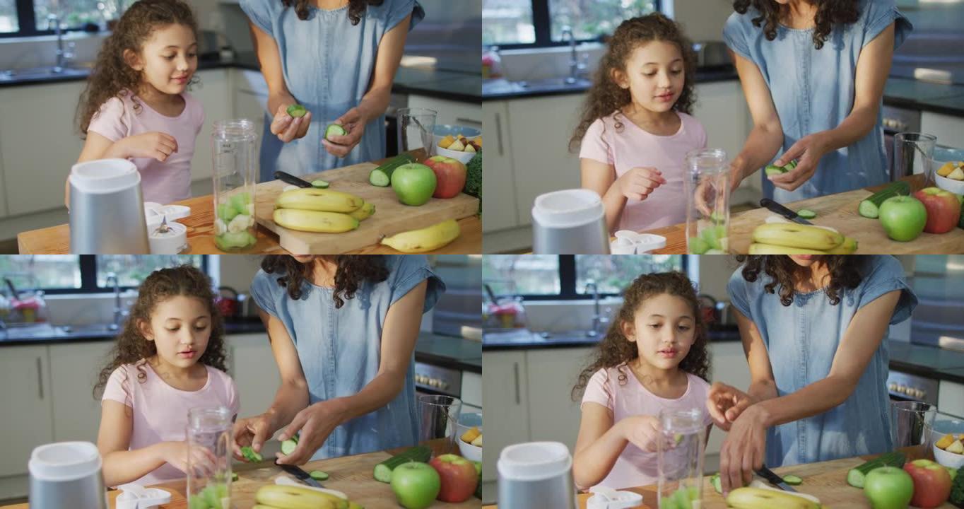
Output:
[[[420,149],[419,149],[420,150]],[[414,151],[415,153],[417,151]],[[373,161],[376,165],[388,159]],[[183,255],[224,255],[214,245],[214,199],[211,195],[175,201],[175,204],[191,207],[191,215],[177,220],[187,227],[189,249]],[[377,211],[376,211],[377,214]],[[459,220],[462,233],[451,244],[431,252],[432,255],[468,255],[482,253],[482,221],[477,216]],[[244,255],[286,255],[278,243],[278,235],[260,225],[257,226],[257,244],[241,252]],[[67,255],[70,253],[70,227],[59,225],[22,231],[16,235],[17,249],[21,255]],[[372,244],[348,252],[355,255],[388,255],[399,252],[382,244]]]

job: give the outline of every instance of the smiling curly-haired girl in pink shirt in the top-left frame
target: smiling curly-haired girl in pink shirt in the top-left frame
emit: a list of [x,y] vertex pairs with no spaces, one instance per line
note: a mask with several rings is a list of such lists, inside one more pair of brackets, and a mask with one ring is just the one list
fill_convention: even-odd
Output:
[[197,34],[181,0],[139,0],[120,16],[77,106],[87,139],[77,162],[132,159],[145,201],[190,198],[191,158],[204,124],[201,102],[185,92],[196,82]]

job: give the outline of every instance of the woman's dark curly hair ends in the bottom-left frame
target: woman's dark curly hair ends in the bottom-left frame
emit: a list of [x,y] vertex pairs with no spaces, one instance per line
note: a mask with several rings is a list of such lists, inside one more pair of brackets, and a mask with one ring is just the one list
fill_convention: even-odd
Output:
[[[344,306],[344,299],[352,299],[365,281],[382,282],[388,279],[388,267],[383,255],[336,255],[335,308]],[[268,255],[261,260],[261,270],[278,274],[278,284],[288,290],[288,297],[302,297],[302,282],[310,278],[311,263],[302,263],[290,255]]]

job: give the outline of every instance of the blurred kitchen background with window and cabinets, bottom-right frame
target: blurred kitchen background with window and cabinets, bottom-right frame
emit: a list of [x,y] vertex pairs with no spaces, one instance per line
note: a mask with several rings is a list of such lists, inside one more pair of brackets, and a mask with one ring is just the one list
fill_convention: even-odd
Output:
[[[897,258],[920,304],[886,339],[891,399],[964,415],[964,255]],[[619,309],[620,293],[639,274],[680,270],[698,284],[701,315],[711,320],[710,381],[749,387],[726,292],[737,266],[723,255],[486,255],[483,384],[499,418],[486,429],[483,503],[495,502],[495,462],[506,445],[551,441],[575,449],[580,413],[571,390]],[[708,474],[719,469],[723,436],[715,427],[710,434]]]

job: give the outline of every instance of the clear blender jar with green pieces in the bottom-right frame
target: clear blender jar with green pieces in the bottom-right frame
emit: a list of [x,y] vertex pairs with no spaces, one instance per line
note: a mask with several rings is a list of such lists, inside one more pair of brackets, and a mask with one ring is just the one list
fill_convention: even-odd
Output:
[[659,507],[699,509],[703,500],[703,453],[707,427],[703,411],[693,408],[659,413],[657,442]]

